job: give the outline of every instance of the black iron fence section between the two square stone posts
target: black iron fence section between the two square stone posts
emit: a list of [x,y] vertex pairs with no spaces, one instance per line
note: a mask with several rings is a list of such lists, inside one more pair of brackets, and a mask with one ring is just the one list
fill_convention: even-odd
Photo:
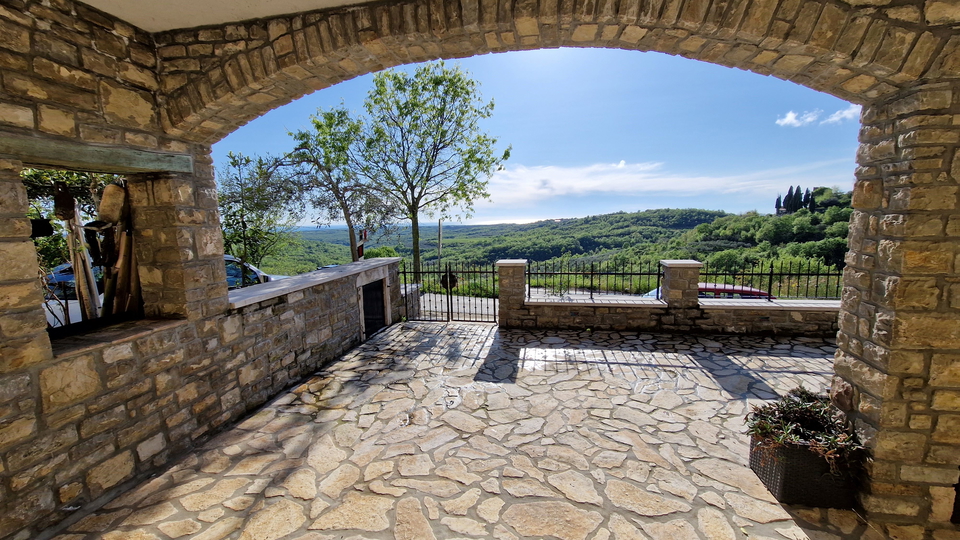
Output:
[[532,262],[527,265],[527,298],[659,298],[660,276],[660,265],[653,263]]

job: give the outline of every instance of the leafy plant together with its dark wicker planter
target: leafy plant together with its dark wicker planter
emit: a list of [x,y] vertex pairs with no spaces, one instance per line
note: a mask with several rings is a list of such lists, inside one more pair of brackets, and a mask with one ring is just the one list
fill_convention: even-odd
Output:
[[747,415],[750,468],[778,501],[853,508],[867,449],[829,399],[795,388]]

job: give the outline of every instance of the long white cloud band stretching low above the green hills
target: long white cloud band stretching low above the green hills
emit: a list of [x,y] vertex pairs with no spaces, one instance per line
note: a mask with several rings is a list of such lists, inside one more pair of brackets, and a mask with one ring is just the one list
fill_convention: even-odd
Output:
[[665,171],[662,163],[625,161],[583,167],[514,165],[493,175],[488,185],[491,200],[477,201],[476,206],[521,207],[545,204],[548,199],[586,199],[598,195],[688,197],[710,193],[776,193],[785,185],[808,178],[804,173],[838,162],[846,161],[816,162],[729,176],[688,176]]

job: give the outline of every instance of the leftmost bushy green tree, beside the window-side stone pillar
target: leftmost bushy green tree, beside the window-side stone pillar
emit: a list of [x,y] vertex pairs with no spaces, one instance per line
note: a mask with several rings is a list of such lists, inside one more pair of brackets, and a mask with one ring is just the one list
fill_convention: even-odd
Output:
[[299,190],[276,159],[233,152],[227,158],[227,166],[217,171],[224,251],[259,266],[296,241]]

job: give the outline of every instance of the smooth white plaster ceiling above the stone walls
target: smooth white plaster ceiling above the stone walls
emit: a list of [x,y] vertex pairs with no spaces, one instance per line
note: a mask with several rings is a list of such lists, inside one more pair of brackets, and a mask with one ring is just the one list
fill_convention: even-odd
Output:
[[363,0],[83,0],[148,32],[260,19]]

